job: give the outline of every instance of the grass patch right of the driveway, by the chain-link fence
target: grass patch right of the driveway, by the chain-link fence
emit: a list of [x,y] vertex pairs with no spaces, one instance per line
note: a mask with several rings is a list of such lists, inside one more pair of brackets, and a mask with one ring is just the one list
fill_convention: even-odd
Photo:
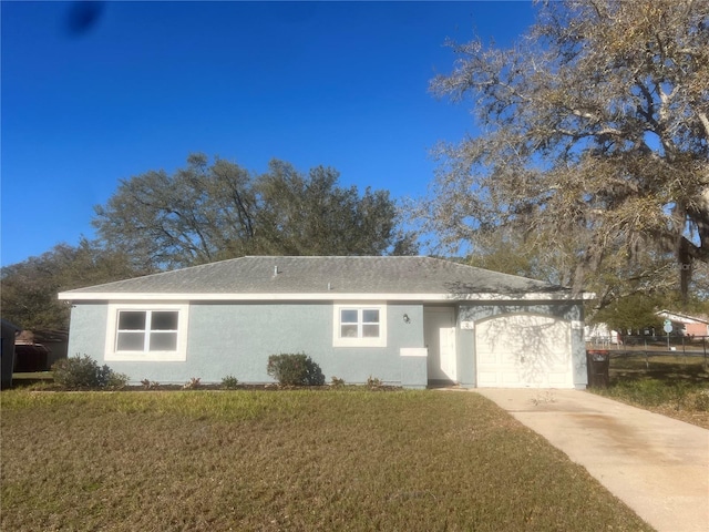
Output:
[[703,357],[614,357],[610,386],[589,390],[709,429],[709,372]]

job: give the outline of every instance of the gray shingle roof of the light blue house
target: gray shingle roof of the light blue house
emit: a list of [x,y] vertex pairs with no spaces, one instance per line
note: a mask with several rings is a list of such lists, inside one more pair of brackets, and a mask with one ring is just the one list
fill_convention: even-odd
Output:
[[[277,269],[276,269],[277,268]],[[277,273],[276,273],[277,272]],[[568,297],[543,282],[430,257],[242,257],[60,294],[62,299],[154,295],[504,295]],[[101,297],[97,297],[101,298]],[[281,297],[282,298],[282,297]]]

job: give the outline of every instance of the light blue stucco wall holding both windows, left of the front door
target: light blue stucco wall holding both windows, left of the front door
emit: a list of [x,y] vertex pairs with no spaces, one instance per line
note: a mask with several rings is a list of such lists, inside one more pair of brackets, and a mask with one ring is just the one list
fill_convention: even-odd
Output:
[[[156,301],[156,305],[158,303]],[[387,305],[386,347],[332,347],[332,303],[189,305],[187,357],[185,361],[105,362],[106,304],[76,304],[72,309],[69,355],[89,355],[99,364],[126,374],[132,382],[143,379],[161,383],[184,383],[191,378],[220,382],[232,375],[240,382],[273,382],[266,374],[270,355],[305,352],[326,377],[348,383],[376,377],[400,383],[401,348],[423,347],[423,309],[417,304]],[[408,319],[404,319],[404,314]],[[414,372],[404,380],[415,380]]]

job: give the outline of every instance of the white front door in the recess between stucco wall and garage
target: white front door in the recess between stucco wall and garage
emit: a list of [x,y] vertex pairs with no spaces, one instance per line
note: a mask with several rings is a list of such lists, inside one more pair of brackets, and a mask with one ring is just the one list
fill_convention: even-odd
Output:
[[429,349],[429,380],[455,382],[455,311],[452,307],[423,309],[423,341]]

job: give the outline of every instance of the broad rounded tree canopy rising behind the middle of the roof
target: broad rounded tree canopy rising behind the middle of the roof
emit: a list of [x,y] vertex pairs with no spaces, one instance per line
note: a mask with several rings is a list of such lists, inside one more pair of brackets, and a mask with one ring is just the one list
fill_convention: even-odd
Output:
[[165,269],[244,255],[380,255],[410,242],[386,191],[363,195],[318,166],[304,175],[274,160],[255,175],[203,154],[169,175],[122,181],[93,225],[110,248],[141,267]]

